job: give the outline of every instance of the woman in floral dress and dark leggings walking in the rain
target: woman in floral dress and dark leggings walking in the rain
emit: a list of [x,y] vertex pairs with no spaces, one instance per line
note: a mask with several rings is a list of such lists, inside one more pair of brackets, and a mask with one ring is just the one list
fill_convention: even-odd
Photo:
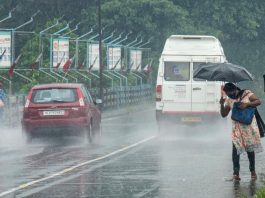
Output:
[[[222,117],[226,117],[230,110],[232,110],[235,102],[240,102],[240,109],[247,107],[257,107],[261,104],[260,100],[250,90],[241,90],[233,83],[226,83],[224,92],[228,96],[227,99],[221,97],[220,99],[220,113]],[[249,159],[249,170],[251,178],[257,179],[255,171],[255,152],[262,151],[260,142],[259,128],[255,116],[250,124],[242,124],[238,121],[232,120],[232,160],[233,160],[233,179],[239,181],[240,171],[240,154],[247,152]]]

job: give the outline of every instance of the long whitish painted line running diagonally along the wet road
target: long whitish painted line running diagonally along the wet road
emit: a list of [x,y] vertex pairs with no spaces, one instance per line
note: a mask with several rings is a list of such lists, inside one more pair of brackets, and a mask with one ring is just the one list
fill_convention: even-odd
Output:
[[119,150],[116,150],[116,151],[114,151],[114,152],[112,152],[112,153],[109,153],[109,154],[107,154],[107,155],[104,155],[104,156],[102,156],[102,157],[98,157],[98,158],[95,158],[95,159],[93,159],[93,160],[85,161],[85,162],[80,163],[80,164],[77,164],[77,165],[75,165],[75,166],[71,166],[71,167],[69,167],[69,168],[66,168],[66,169],[64,169],[64,170],[62,170],[62,171],[60,171],[60,172],[54,173],[54,174],[52,174],[52,175],[50,175],[50,176],[47,176],[47,177],[44,177],[44,178],[41,178],[41,179],[37,179],[37,180],[31,181],[31,182],[28,182],[28,183],[25,183],[25,184],[21,184],[21,185],[19,185],[18,187],[15,187],[15,188],[12,188],[12,189],[10,189],[10,190],[7,190],[7,191],[4,191],[4,192],[0,193],[0,197],[6,196],[6,195],[11,194],[11,193],[13,193],[13,192],[15,192],[15,191],[18,191],[18,190],[22,190],[22,189],[27,188],[27,187],[29,187],[29,186],[32,186],[32,185],[34,185],[34,184],[37,184],[37,183],[40,183],[40,182],[43,182],[43,181],[46,181],[46,180],[52,179],[52,178],[54,178],[54,177],[57,177],[57,176],[63,175],[63,174],[65,174],[65,173],[70,172],[70,171],[73,171],[73,170],[75,170],[75,169],[77,169],[77,168],[79,168],[79,167],[81,167],[81,166],[85,166],[85,165],[87,165],[87,164],[91,164],[91,163],[93,163],[93,162],[96,162],[96,161],[103,160],[103,159],[105,159],[105,158],[111,157],[111,156],[113,156],[113,155],[116,155],[116,154],[121,153],[121,152],[123,152],[123,151],[126,151],[126,150],[128,150],[128,149],[131,149],[131,148],[133,148],[133,147],[136,147],[136,146],[138,146],[138,145],[140,145],[140,144],[143,144],[143,143],[145,143],[145,142],[148,142],[148,141],[154,139],[155,137],[156,137],[156,136],[151,136],[151,137],[149,137],[149,138],[146,138],[146,139],[144,139],[144,140],[141,140],[141,141],[136,142],[136,143],[134,143],[134,144],[131,144],[131,145],[129,145],[129,146],[123,147],[123,148],[121,148],[121,149],[119,149]]

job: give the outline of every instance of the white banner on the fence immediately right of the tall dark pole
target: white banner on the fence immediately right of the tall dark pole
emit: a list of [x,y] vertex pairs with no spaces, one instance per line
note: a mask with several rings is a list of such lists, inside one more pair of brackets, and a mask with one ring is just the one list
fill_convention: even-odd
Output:
[[108,48],[108,69],[120,70],[121,69],[121,48],[109,47]]

